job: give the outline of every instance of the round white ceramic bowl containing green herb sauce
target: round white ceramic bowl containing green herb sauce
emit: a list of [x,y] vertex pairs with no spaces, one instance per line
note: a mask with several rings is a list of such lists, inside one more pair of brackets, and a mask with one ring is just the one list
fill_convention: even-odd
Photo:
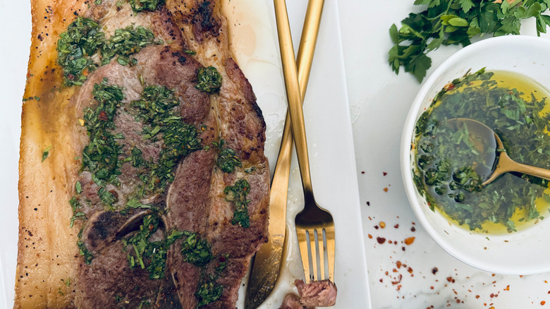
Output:
[[[539,37],[494,37],[471,44],[436,68],[410,108],[401,138],[401,174],[418,221],[444,250],[473,267],[501,274],[550,271],[550,214],[546,220],[512,234],[477,234],[450,224],[433,212],[412,182],[414,161],[410,145],[415,123],[441,88],[470,68],[521,73],[550,87],[550,40]],[[550,99],[550,98],[549,98]]]

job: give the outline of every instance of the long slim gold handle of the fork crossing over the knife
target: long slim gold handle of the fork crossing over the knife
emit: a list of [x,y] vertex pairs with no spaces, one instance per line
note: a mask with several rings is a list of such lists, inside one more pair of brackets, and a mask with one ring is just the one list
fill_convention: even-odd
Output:
[[286,97],[288,99],[288,111],[291,115],[292,133],[296,145],[300,175],[302,176],[302,186],[304,189],[304,198],[306,200],[305,205],[307,206],[307,201],[313,200],[313,189],[311,183],[310,159],[307,153],[307,140],[305,137],[302,97],[300,95],[298,71],[294,59],[291,26],[288,22],[286,2],[284,0],[274,0],[274,4],[277,32],[279,32],[279,49],[281,50],[281,61],[283,62]]

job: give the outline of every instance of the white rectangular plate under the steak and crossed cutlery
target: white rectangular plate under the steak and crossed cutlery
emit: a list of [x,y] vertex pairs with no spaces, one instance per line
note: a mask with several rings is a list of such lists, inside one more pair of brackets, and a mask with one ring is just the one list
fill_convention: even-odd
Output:
[[[25,87],[30,37],[29,1],[1,1],[0,32],[0,308],[13,307],[13,285],[18,238],[18,152],[20,106]],[[298,49],[306,0],[288,1],[288,14]],[[237,63],[252,83],[267,123],[266,153],[274,169],[281,143],[286,97],[279,58],[273,2],[224,0]],[[305,121],[312,182],[317,202],[329,210],[336,225],[336,285],[334,308],[370,308],[367,265],[362,237],[355,152],[349,116],[337,0],[326,0],[319,41],[305,99]],[[9,43],[7,43],[9,42]],[[291,246],[281,279],[261,308],[278,308],[286,293],[295,291],[295,278],[303,279],[295,236],[294,217],[303,205],[300,171],[293,162],[288,191],[287,223]],[[246,278],[245,281],[246,282]],[[244,286],[238,308],[244,308]]]

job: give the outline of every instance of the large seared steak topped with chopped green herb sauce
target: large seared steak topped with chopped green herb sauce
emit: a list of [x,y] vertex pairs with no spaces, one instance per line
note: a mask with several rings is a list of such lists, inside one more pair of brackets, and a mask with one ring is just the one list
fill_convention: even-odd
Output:
[[219,1],[82,2],[32,1],[16,308],[235,308],[269,165]]

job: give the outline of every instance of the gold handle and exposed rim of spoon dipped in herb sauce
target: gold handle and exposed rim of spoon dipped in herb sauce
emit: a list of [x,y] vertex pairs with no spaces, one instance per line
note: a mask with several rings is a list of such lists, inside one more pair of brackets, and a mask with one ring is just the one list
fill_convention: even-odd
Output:
[[502,141],[501,138],[499,138],[499,135],[494,133],[494,131],[491,130],[491,128],[489,128],[488,126],[484,125],[484,123],[467,118],[456,118],[449,121],[456,121],[458,125],[468,126],[469,130],[475,131],[477,135],[486,137],[488,139],[494,138],[494,140],[496,141],[496,156],[494,159],[495,164],[493,164],[493,168],[491,169],[491,174],[489,174],[489,178],[487,178],[487,180],[482,183],[482,186],[486,186],[491,181],[494,181],[496,177],[508,171],[515,171],[518,173],[537,176],[539,178],[550,180],[549,169],[543,169],[542,167],[522,164],[519,162],[515,162],[513,159],[511,159],[506,153],[506,150],[504,149],[504,145],[502,145]]

